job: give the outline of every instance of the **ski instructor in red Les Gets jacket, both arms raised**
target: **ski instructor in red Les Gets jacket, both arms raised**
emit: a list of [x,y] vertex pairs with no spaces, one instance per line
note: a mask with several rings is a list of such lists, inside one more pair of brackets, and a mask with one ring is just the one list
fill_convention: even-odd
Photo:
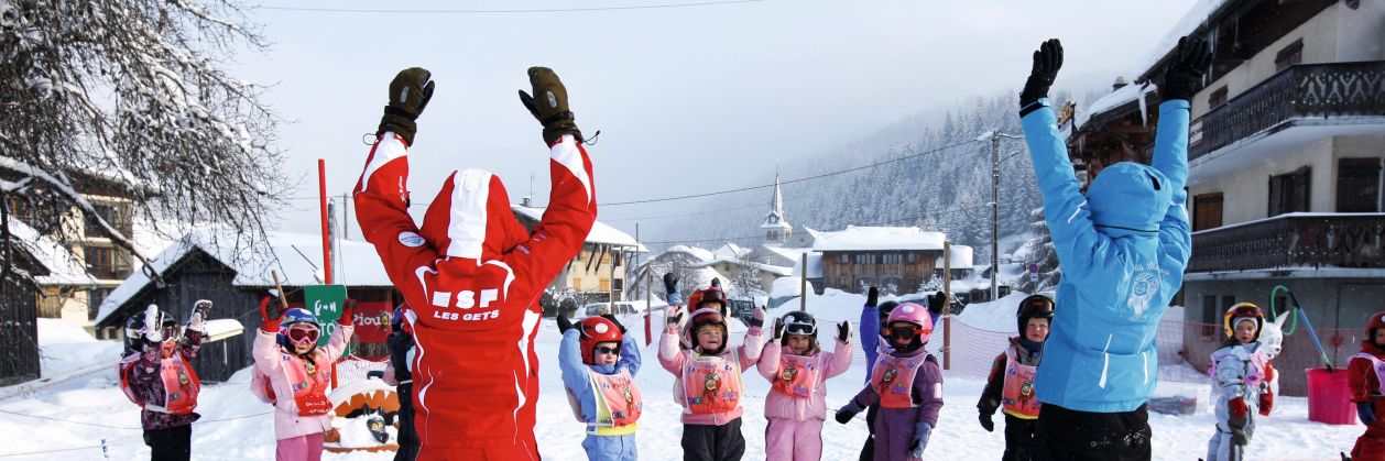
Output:
[[543,125],[553,180],[533,233],[515,220],[500,179],[475,169],[447,177],[422,226],[414,226],[409,148],[435,87],[421,68],[389,83],[389,105],[356,184],[361,233],[411,307],[404,318],[417,346],[418,460],[539,458],[539,296],[582,249],[597,202],[562,82],[547,68],[529,68],[529,83],[533,96],[519,91],[519,98]]

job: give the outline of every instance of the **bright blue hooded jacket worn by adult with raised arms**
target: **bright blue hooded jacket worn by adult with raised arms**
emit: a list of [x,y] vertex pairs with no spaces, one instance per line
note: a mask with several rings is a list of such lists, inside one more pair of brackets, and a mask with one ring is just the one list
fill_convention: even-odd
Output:
[[1152,166],[1120,162],[1083,197],[1057,119],[1021,118],[1043,194],[1062,281],[1035,388],[1064,408],[1120,413],[1144,404],[1158,381],[1154,339],[1192,252],[1184,206],[1188,101],[1159,105]]

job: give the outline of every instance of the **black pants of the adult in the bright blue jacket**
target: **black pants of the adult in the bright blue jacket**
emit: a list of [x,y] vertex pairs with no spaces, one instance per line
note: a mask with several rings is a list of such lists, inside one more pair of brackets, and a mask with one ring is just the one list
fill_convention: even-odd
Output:
[[1043,404],[1035,425],[1037,461],[1148,461],[1150,410],[1090,413]]

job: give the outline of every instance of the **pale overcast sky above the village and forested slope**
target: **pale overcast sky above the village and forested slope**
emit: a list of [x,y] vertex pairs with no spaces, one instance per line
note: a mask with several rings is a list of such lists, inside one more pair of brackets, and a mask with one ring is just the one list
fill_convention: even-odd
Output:
[[[706,0],[263,6],[537,10],[699,1]],[[758,186],[777,163],[821,155],[920,111],[1018,91],[1030,53],[1048,37],[1065,47],[1060,87],[1108,84],[1129,76],[1192,3],[763,0],[525,14],[260,8],[249,15],[273,47],[238,55],[231,71],[270,84],[265,101],[291,122],[280,127],[278,147],[288,154],[287,172],[303,183],[281,228],[316,231],[317,158],[327,159],[328,192],[348,192],[368,151],[361,136],[375,130],[389,80],[407,66],[428,68],[438,82],[410,155],[416,202],[431,201],[447,173],[465,168],[500,174],[514,201],[529,192],[535,174],[536,202],[547,202],[540,127],[515,96],[529,87],[525,69],[544,65],[566,84],[583,133],[601,130],[589,152],[598,202],[608,204]],[[598,219],[633,233],[634,217],[694,205],[604,206]],[[349,226],[359,238],[357,224]]]

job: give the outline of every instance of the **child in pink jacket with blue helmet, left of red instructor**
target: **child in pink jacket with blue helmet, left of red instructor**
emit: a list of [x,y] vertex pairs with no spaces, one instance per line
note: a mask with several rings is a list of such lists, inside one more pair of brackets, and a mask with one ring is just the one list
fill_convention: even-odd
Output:
[[[265,323],[255,336],[255,371],[251,389],[274,404],[276,458],[317,461],[323,457],[323,433],[332,428],[332,404],[327,400],[332,363],[346,349],[352,334],[352,302],[346,302],[337,331],[327,346],[317,347],[321,324],[305,309],[283,316],[260,305]],[[266,389],[267,388],[267,389]]]

